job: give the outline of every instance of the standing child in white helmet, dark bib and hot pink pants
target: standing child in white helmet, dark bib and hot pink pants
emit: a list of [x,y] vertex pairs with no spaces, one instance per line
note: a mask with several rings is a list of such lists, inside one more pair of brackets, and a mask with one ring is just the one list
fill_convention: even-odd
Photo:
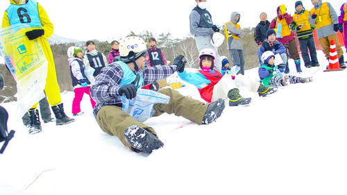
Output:
[[[82,115],[84,112],[81,111],[81,101],[83,95],[87,94],[90,96],[90,80],[88,80],[85,73],[85,64],[83,63],[83,50],[77,46],[70,46],[67,49],[67,61],[70,65],[70,74],[72,87],[74,87],[74,100],[72,101],[72,115]],[[92,108],[95,106],[95,101],[90,96],[90,103]]]

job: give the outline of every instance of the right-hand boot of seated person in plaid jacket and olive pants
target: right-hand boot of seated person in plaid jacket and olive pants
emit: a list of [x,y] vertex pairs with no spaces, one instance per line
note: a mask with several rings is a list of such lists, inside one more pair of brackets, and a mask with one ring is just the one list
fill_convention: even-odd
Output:
[[203,121],[201,124],[207,125],[216,121],[218,117],[221,116],[221,112],[223,112],[224,108],[226,108],[226,103],[223,99],[218,99],[208,105],[208,109],[203,115]]

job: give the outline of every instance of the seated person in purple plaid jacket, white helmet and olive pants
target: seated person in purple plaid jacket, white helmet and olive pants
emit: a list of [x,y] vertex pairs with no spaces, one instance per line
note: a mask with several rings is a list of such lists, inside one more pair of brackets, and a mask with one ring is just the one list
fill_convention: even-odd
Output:
[[[121,142],[137,152],[151,153],[163,146],[155,130],[137,121],[133,115],[122,110],[123,99],[134,99],[137,89],[183,72],[184,56],[174,59],[170,66],[145,67],[146,44],[140,37],[126,37],[119,44],[120,61],[101,69],[90,94],[96,101],[94,116],[106,133],[117,136]],[[182,116],[196,124],[210,124],[221,116],[225,104],[222,99],[205,104],[183,96],[171,88],[158,90],[160,95],[169,96],[168,103],[154,103],[151,116],[158,117],[164,112]],[[136,101],[136,99],[135,99]],[[135,104],[135,103],[134,103]]]

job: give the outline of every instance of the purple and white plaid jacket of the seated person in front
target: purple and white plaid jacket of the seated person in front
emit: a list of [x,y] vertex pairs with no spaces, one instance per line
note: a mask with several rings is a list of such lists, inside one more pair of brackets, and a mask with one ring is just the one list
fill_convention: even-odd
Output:
[[[135,72],[141,74],[144,78],[142,86],[149,85],[156,80],[167,78],[174,74],[177,66],[155,66],[147,67],[144,70]],[[118,90],[121,87],[121,79],[124,76],[124,71],[117,63],[112,63],[107,67],[103,67],[98,76],[96,76],[95,83],[90,87],[90,95],[96,102],[94,107],[94,117],[98,114],[99,110],[105,105],[121,106],[121,98],[119,97]]]

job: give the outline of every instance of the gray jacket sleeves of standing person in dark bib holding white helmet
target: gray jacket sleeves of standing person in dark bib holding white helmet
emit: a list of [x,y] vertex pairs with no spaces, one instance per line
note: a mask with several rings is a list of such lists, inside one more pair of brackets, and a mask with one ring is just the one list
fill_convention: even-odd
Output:
[[[199,27],[200,24],[200,14],[196,10],[192,10],[189,15],[189,28],[190,33],[195,36],[211,36],[212,28],[202,28]],[[211,19],[212,23],[212,19]]]

